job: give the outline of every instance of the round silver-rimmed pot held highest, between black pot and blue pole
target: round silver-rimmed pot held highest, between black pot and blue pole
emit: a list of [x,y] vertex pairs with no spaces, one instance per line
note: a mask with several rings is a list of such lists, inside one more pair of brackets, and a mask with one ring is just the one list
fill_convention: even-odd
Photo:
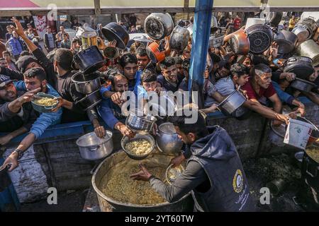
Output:
[[169,13],[151,13],[145,18],[144,28],[153,40],[162,40],[172,33],[174,22]]

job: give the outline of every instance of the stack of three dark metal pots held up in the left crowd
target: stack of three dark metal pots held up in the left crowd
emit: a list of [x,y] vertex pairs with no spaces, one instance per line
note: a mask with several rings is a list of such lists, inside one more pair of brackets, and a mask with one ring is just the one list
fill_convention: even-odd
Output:
[[79,93],[84,94],[79,103],[86,109],[90,109],[101,102],[99,92],[101,81],[99,70],[105,64],[103,55],[96,45],[92,45],[74,56],[74,62],[80,71],[72,76],[72,82]]

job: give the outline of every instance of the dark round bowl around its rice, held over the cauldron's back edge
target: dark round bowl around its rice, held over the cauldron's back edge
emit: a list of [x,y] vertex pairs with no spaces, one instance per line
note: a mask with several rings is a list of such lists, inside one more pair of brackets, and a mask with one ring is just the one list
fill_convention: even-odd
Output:
[[[137,141],[140,139],[145,139],[148,142],[151,143],[151,148],[150,151],[148,153],[146,153],[145,155],[135,155],[133,153],[130,152],[130,150],[126,150],[125,149],[125,145],[130,142],[130,141]],[[136,134],[135,137],[133,139],[128,138],[128,136],[123,136],[122,140],[121,140],[121,146],[123,148],[123,150],[125,151],[125,153],[128,155],[128,157],[130,157],[133,160],[143,160],[145,159],[148,155],[150,155],[150,153],[152,153],[152,151],[155,148],[155,140],[154,138],[150,135],[150,134]]]

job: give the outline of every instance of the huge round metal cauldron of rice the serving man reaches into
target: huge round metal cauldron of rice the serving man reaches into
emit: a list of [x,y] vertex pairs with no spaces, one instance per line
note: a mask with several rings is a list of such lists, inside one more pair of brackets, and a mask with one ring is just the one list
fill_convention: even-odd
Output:
[[[130,159],[123,151],[106,157],[97,167],[92,177],[92,185],[99,199],[101,211],[192,211],[194,201],[190,194],[174,203],[168,203],[152,189],[150,183],[130,179],[130,174],[138,172],[138,163],[164,181],[165,170],[172,156],[158,151],[145,160]],[[167,183],[167,182],[166,182]]]

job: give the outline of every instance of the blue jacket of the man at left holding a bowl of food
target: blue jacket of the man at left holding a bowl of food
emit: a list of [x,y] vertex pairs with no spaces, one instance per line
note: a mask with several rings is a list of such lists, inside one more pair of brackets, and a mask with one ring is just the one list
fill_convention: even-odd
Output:
[[[24,81],[14,82],[17,90],[26,90],[26,83]],[[52,88],[51,85],[47,84],[47,94],[54,95],[55,97],[60,97],[59,93]],[[62,117],[62,108],[60,108],[57,112],[50,113],[40,113],[38,119],[33,123],[30,133],[35,135],[35,138],[38,139],[47,129],[47,127],[59,124]]]

